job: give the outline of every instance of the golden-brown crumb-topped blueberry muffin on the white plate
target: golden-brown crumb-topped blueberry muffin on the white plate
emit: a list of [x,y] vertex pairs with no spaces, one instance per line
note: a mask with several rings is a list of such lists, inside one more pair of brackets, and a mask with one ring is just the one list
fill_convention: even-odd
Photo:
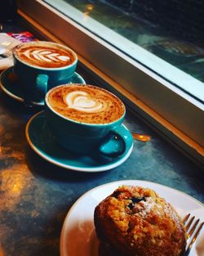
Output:
[[100,256],[181,256],[186,237],[175,209],[149,188],[119,186],[95,207]]

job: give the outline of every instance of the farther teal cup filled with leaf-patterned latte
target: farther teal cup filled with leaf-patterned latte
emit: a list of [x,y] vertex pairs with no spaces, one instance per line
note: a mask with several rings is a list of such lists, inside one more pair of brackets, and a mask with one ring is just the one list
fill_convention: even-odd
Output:
[[25,102],[44,101],[49,89],[69,83],[78,63],[72,49],[45,41],[20,43],[14,48],[13,57]]

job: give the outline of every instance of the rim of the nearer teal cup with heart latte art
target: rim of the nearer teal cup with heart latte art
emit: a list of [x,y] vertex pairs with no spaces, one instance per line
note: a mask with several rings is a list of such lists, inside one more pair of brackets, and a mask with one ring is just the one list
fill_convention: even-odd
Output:
[[49,94],[54,91],[56,88],[60,88],[60,87],[66,87],[66,86],[73,86],[73,85],[78,85],[78,86],[90,86],[90,87],[93,87],[93,88],[100,88],[100,87],[97,87],[95,85],[91,85],[91,84],[82,84],[82,83],[73,83],[73,84],[69,84],[69,83],[65,83],[65,84],[60,84],[58,86],[56,86],[55,88],[51,88],[46,96],[45,96],[45,104],[46,106],[49,108],[49,110],[51,110],[53,113],[55,113],[55,115],[58,115],[60,116],[60,118],[62,119],[65,119],[65,120],[69,120],[71,121],[72,123],[74,124],[82,124],[82,125],[85,125],[85,126],[92,126],[92,127],[100,127],[100,126],[109,126],[109,125],[113,125],[114,123],[117,123],[119,120],[123,119],[126,115],[126,106],[125,104],[122,102],[122,100],[120,98],[118,98],[115,94],[113,94],[113,92],[109,92],[108,90],[104,89],[104,88],[100,88],[101,90],[104,90],[104,91],[107,91],[109,92],[110,94],[112,94],[114,97],[117,97],[119,101],[121,101],[122,103],[122,106],[124,108],[124,112],[122,114],[122,116],[119,118],[119,119],[116,119],[114,120],[113,122],[110,122],[110,123],[104,123],[104,124],[90,124],[90,123],[83,123],[83,122],[78,122],[76,120],[73,120],[73,119],[69,119],[68,117],[65,117],[64,115],[61,115],[60,113],[58,113],[57,111],[55,111],[52,107],[51,107],[51,104],[49,103],[48,101],[48,97],[49,97]]

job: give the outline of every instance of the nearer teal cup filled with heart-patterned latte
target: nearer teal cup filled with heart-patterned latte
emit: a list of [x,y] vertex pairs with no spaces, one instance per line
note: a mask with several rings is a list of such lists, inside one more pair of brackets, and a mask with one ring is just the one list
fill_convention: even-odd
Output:
[[122,124],[126,108],[113,93],[92,85],[64,84],[45,97],[45,114],[55,140],[82,155],[118,157],[132,146]]

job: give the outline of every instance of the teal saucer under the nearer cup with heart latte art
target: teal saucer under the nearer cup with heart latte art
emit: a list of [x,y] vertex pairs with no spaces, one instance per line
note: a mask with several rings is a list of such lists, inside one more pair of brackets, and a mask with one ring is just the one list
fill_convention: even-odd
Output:
[[101,155],[75,155],[64,150],[52,136],[44,111],[33,115],[25,128],[29,146],[43,159],[62,168],[80,172],[103,172],[122,164],[131,155],[133,144],[126,154],[118,158]]

